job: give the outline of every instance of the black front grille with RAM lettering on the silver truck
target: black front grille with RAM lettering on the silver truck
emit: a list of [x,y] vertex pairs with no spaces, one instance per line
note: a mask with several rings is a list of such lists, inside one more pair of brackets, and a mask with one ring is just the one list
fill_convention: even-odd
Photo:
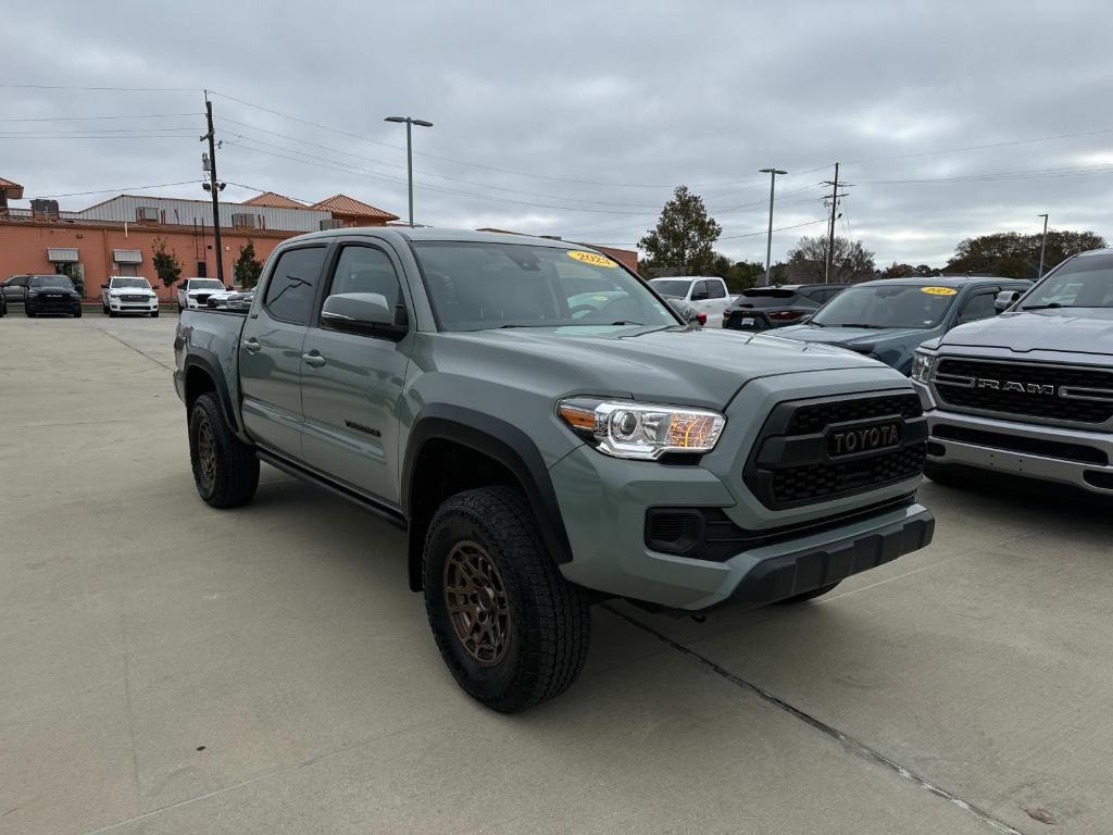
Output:
[[[976,383],[978,380],[995,381],[999,385],[1020,383],[1025,391],[983,387]],[[1074,423],[1113,420],[1113,372],[1097,369],[944,358],[935,372],[935,386],[940,402],[961,409]],[[1032,393],[1027,391],[1028,386],[1051,386],[1053,393]],[[1104,401],[1083,400],[1063,396],[1064,389],[1097,389],[1111,394],[1105,395]]]

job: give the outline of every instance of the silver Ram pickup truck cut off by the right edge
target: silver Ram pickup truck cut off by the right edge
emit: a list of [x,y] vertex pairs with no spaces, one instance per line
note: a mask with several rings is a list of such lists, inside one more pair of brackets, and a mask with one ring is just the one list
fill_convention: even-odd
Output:
[[913,363],[927,472],[966,468],[1113,495],[1113,249],[1067,258],[995,318],[924,343]]

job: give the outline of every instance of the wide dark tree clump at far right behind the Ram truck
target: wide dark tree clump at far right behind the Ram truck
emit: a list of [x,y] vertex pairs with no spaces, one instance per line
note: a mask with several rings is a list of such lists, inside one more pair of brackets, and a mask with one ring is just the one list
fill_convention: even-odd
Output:
[[[1040,271],[1040,244],[1043,233],[1023,235],[1018,232],[998,232],[965,238],[947,262],[948,273],[986,273],[1009,278],[1035,278]],[[1106,246],[1105,238],[1095,232],[1048,229],[1044,253],[1044,272],[1064,258],[1086,249]]]

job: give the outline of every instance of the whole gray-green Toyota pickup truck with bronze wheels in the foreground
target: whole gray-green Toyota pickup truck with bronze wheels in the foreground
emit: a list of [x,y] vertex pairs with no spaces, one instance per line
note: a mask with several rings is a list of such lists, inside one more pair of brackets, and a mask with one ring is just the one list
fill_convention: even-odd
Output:
[[249,501],[264,461],[404,529],[446,665],[505,713],[575,679],[594,602],[805,600],[932,539],[904,376],[689,326],[583,247],[305,235],[175,353],[201,499]]

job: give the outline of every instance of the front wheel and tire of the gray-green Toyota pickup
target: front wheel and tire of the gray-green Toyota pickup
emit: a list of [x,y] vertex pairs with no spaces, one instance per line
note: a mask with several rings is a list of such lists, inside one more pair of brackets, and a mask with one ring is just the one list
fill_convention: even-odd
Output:
[[583,669],[591,609],[553,562],[518,490],[447,499],[424,553],[425,610],[460,687],[513,714],[567,690]]

